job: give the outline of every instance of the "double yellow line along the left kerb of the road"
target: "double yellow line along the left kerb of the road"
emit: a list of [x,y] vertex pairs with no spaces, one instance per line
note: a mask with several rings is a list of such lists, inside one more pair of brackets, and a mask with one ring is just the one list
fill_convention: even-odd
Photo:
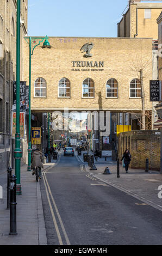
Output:
[[[65,230],[63,221],[61,220],[61,216],[60,216],[60,214],[59,214],[57,205],[55,204],[55,200],[54,200],[54,198],[53,198],[53,196],[52,196],[51,188],[50,188],[50,186],[49,186],[49,184],[48,184],[48,181],[47,181],[47,178],[46,178],[46,173],[48,172],[49,169],[52,169],[52,168],[53,168],[53,167],[48,167],[48,168],[47,168],[46,170],[44,170],[43,173],[42,173],[43,181],[44,181],[45,188],[46,188],[46,194],[47,194],[48,204],[49,204],[49,208],[50,208],[50,210],[51,210],[52,219],[53,219],[53,224],[54,224],[54,227],[55,227],[57,236],[58,236],[59,245],[63,245],[63,240],[62,240],[62,238],[61,238],[60,230],[59,230],[59,227],[58,227],[58,224],[57,224],[57,220],[56,220],[56,218],[55,218],[55,215],[57,215],[57,217],[58,217],[58,220],[59,220],[61,229],[62,229],[63,234],[64,234],[64,236],[65,236],[66,243],[67,243],[67,245],[70,245],[70,241],[69,241],[69,239],[68,239],[68,236],[67,236],[67,233],[66,233],[66,230]],[[51,199],[50,199],[50,197],[51,197]],[[54,207],[54,210],[55,210],[55,214],[54,214],[53,207]]]

